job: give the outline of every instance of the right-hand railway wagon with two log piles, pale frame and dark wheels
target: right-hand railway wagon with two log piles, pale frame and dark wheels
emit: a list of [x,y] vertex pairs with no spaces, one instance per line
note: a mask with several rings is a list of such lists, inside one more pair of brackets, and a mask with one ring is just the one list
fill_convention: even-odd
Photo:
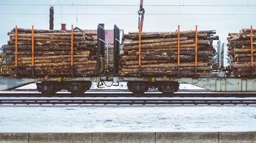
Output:
[[[210,60],[214,56],[212,40],[218,39],[212,35],[215,31],[200,32],[195,26],[194,31],[180,32],[178,26],[176,32],[131,32],[127,35],[127,43],[119,47],[117,41],[114,45],[117,53],[124,55],[121,59],[130,59],[124,65],[115,65],[123,70],[117,70],[121,71],[119,75],[114,73],[119,76],[114,81],[127,81],[127,87],[133,93],[144,93],[148,88],[157,87],[160,92],[170,95],[179,89],[180,83],[216,92],[255,92],[256,30],[251,26],[251,29],[241,31],[229,34],[227,52],[231,64],[226,67],[223,66],[224,45],[220,41],[217,42],[216,60]],[[117,35],[115,39],[118,38]],[[132,61],[134,59],[136,61]]]

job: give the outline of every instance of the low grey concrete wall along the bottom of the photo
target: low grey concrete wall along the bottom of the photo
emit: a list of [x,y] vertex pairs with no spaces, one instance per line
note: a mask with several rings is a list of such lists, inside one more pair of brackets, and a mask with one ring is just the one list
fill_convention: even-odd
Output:
[[0,133],[0,143],[256,143],[256,132]]

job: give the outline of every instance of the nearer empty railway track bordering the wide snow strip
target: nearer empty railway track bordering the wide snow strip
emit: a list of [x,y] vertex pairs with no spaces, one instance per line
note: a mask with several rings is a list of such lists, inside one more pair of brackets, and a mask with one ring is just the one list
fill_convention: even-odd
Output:
[[0,105],[256,105],[256,98],[0,98]]

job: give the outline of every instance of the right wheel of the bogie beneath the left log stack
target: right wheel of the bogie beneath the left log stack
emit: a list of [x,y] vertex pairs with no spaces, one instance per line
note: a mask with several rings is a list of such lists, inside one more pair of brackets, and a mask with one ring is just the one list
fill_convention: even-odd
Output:
[[83,93],[86,92],[86,90],[89,90],[91,87],[92,82],[71,82],[69,86],[67,87],[67,90],[72,93],[72,95],[80,96]]

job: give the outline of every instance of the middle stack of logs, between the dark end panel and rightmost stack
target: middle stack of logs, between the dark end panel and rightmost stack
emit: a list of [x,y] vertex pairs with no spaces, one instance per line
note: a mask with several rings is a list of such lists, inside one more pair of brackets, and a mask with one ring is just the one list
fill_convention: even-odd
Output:
[[[214,47],[218,40],[214,30],[180,32],[180,67],[178,67],[178,32],[142,32],[139,66],[139,33],[124,35],[121,73],[123,75],[211,76]],[[197,61],[195,63],[195,61]],[[197,66],[195,67],[195,64]]]

